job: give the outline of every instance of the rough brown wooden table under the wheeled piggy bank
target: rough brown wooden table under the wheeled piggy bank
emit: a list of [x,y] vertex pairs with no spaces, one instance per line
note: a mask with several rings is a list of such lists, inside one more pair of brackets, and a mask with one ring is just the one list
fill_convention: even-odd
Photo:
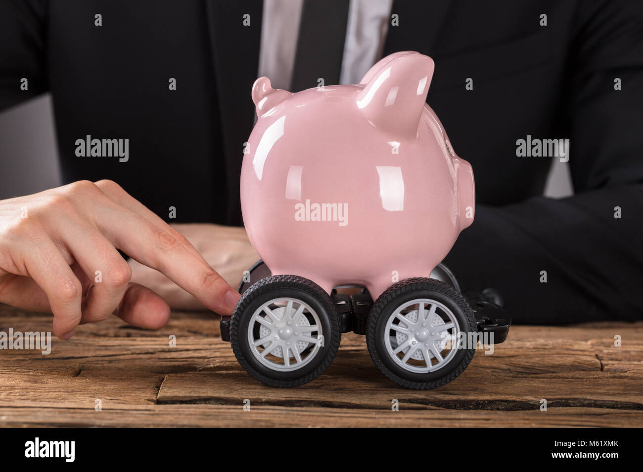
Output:
[[[49,331],[51,315],[0,304],[10,327]],[[52,338],[48,355],[0,350],[0,426],[643,426],[643,322],[514,326],[455,381],[415,391],[352,333],[320,378],[271,389],[241,369],[216,315],[174,313],[159,331],[112,317]]]

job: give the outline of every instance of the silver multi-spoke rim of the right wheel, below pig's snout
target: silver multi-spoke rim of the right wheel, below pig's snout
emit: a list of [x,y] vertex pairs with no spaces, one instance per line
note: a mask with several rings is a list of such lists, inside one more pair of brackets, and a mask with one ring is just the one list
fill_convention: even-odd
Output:
[[459,331],[458,320],[444,304],[431,299],[404,302],[386,322],[386,352],[406,371],[434,372],[455,356]]

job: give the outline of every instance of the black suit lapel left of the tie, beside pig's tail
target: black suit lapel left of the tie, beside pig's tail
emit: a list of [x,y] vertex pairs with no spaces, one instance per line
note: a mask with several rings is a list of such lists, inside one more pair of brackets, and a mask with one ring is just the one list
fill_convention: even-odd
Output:
[[[248,141],[255,114],[250,91],[257,79],[263,1],[204,1],[228,182],[227,220],[231,225],[240,225],[239,176],[243,144]],[[249,26],[244,25],[246,14]]]

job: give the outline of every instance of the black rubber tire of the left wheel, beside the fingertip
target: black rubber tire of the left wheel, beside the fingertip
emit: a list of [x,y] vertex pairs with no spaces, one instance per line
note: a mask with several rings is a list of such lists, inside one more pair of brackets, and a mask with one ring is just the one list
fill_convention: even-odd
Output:
[[[278,297],[300,299],[316,311],[321,322],[323,346],[311,362],[301,369],[279,372],[262,365],[248,344],[248,325],[255,310]],[[271,275],[253,284],[243,293],[230,320],[230,342],[237,360],[248,374],[271,387],[297,387],[316,379],[325,371],[340,347],[340,321],[331,297],[318,284],[297,275]]]

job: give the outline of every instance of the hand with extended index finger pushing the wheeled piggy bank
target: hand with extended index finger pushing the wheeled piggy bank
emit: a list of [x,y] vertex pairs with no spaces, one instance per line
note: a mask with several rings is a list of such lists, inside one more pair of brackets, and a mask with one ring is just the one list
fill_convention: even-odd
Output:
[[79,323],[115,313],[141,328],[164,326],[168,304],[131,283],[120,249],[230,315],[239,293],[175,229],[111,180],[74,182],[0,200],[0,302],[51,311],[53,331],[73,336]]

